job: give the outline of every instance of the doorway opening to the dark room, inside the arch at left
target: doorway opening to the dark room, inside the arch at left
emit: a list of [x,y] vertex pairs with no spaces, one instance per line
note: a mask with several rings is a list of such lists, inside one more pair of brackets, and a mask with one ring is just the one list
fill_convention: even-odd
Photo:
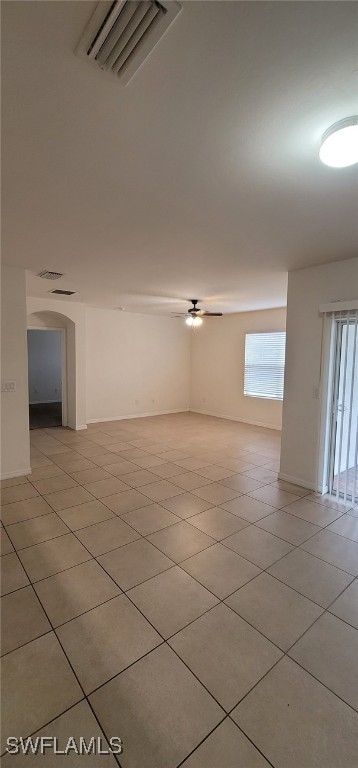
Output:
[[65,331],[27,331],[29,426],[44,429],[66,425]]

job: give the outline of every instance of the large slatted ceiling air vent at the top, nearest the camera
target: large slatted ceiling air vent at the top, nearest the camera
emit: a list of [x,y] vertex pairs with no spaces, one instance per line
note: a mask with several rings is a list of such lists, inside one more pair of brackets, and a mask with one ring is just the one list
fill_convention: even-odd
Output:
[[99,2],[76,56],[126,85],[179,11],[174,0]]

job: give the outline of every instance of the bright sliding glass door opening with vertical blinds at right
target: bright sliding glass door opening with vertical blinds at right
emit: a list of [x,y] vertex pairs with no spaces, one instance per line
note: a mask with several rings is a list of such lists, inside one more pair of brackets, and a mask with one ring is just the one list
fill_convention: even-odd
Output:
[[358,504],[358,311],[334,318],[329,492]]

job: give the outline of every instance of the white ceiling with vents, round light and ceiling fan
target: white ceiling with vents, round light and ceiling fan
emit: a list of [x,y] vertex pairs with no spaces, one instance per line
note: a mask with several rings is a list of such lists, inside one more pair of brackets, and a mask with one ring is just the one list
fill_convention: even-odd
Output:
[[357,112],[357,3],[184,2],[126,87],[73,55],[96,2],[2,5],[3,260],[30,294],[263,309],[357,255],[357,166],[318,159]]

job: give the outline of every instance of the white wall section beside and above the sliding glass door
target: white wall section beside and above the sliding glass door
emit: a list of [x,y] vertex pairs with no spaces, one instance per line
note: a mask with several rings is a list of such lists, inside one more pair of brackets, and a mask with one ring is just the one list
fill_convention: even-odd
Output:
[[[280,475],[316,484],[323,320],[319,305],[358,298],[358,258],[289,273]],[[321,392],[322,395],[322,392]]]

